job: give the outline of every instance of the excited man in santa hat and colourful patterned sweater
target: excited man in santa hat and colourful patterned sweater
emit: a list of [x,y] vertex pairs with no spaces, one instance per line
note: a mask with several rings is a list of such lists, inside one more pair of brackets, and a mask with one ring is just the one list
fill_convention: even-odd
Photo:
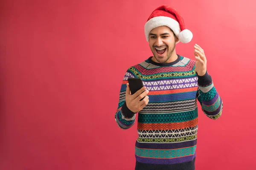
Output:
[[[116,122],[128,129],[138,113],[135,170],[195,170],[197,99],[211,119],[218,119],[223,108],[207,72],[204,50],[194,46],[195,60],[176,54],[175,45],[190,42],[192,33],[170,6],[152,12],[145,36],[154,57],[126,71]],[[145,86],[131,95],[128,77],[141,78]]]

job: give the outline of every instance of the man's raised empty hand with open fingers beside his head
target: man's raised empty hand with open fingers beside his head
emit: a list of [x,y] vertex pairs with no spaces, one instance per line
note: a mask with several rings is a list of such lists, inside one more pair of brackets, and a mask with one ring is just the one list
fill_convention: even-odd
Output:
[[206,64],[207,59],[204,54],[204,50],[197,44],[194,46],[194,55],[195,55],[195,71],[197,72],[198,76],[204,76],[206,73]]

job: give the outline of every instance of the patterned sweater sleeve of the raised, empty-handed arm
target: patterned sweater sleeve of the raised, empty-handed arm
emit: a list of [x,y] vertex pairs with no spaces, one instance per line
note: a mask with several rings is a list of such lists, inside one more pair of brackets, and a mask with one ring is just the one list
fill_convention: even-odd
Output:
[[[196,73],[197,74],[197,73]],[[198,76],[197,99],[201,104],[202,111],[211,119],[218,119],[221,116],[223,103],[216,91],[212,77],[206,71],[204,76]]]

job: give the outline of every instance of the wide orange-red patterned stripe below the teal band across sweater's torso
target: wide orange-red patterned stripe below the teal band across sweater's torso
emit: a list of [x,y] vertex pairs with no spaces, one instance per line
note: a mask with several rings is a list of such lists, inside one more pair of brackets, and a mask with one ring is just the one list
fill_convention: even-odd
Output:
[[138,123],[139,130],[175,130],[198,125],[198,118],[178,123]]

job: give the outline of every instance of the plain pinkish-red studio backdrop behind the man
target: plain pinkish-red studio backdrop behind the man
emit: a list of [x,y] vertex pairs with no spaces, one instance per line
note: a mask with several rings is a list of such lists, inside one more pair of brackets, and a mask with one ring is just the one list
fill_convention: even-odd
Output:
[[[172,3],[171,3],[172,2]],[[224,102],[199,107],[196,170],[254,170],[256,22],[253,0],[2,0],[0,170],[133,170],[137,123],[114,115],[127,68],[151,56],[144,24],[169,4],[201,45]]]

